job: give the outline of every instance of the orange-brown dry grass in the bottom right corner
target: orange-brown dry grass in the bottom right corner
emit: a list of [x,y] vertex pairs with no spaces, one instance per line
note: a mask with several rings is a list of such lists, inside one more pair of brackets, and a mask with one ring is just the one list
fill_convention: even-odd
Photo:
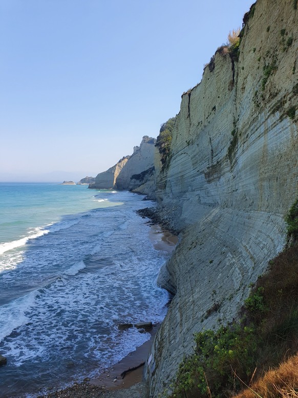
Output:
[[298,354],[283,362],[279,368],[269,370],[250,388],[235,398],[295,398],[298,397]]

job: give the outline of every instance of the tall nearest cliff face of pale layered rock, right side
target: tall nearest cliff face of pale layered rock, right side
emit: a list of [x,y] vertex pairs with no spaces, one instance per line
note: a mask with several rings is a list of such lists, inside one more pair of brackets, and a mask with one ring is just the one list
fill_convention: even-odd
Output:
[[182,96],[156,187],[162,217],[181,234],[159,275],[176,295],[146,369],[152,396],[191,352],[193,333],[236,316],[284,245],[284,215],[298,193],[297,26],[293,2],[258,0],[239,62],[217,52]]

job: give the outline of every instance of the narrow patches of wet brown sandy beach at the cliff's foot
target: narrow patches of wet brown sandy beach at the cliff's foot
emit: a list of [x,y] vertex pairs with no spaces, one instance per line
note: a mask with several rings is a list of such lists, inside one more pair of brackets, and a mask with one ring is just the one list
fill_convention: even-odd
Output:
[[[154,248],[172,252],[178,242],[178,237],[159,224],[152,224],[151,221],[148,223],[151,223],[149,237]],[[69,388],[40,395],[39,398],[97,398],[100,396],[147,398],[147,386],[143,380],[144,364],[147,361],[148,352],[159,326],[154,325],[152,330],[149,331],[151,334],[150,340],[126,355],[120,362],[105,370],[96,379],[74,383]],[[125,333],[125,330],[123,330],[123,333]]]

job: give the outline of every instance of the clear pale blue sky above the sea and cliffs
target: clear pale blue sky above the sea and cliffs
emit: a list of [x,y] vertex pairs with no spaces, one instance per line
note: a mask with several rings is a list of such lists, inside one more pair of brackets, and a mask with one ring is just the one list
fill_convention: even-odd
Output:
[[0,181],[79,180],[132,154],[252,3],[0,0]]

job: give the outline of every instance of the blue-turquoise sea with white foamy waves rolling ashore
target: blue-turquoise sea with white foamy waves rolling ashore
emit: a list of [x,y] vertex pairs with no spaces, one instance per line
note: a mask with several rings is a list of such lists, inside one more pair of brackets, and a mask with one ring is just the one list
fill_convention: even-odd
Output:
[[150,339],[118,325],[166,314],[156,280],[169,252],[136,214],[151,206],[127,191],[0,183],[1,398],[96,377]]

